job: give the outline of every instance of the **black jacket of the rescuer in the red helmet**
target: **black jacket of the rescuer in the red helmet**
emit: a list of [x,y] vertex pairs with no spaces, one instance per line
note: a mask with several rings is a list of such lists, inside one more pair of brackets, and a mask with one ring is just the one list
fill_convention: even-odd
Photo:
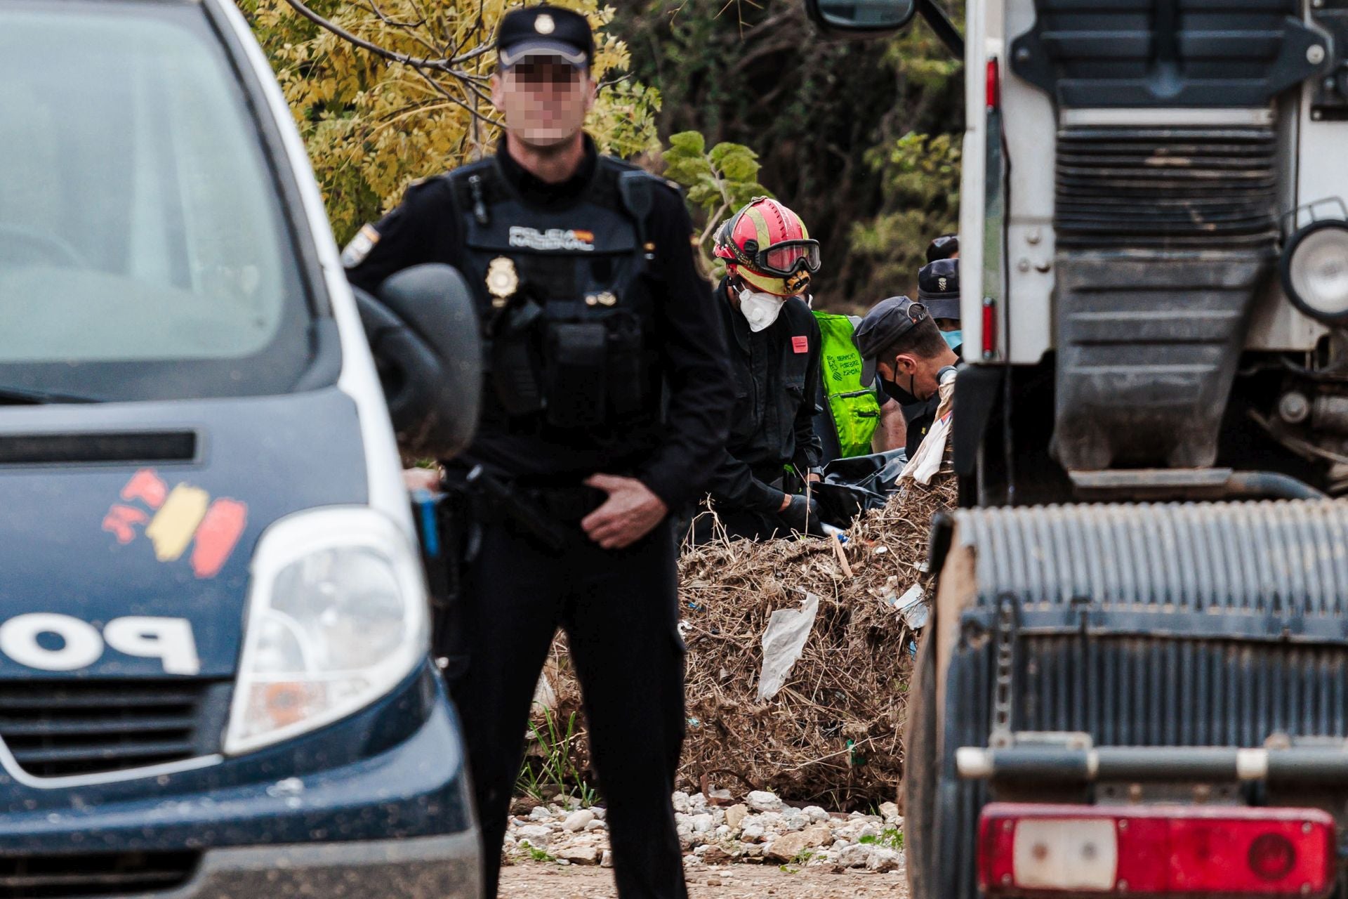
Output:
[[724,280],[716,301],[731,345],[735,415],[729,443],[712,474],[712,499],[771,515],[782,505],[782,489],[772,484],[780,484],[783,466],[794,462],[803,476],[824,458],[814,433],[820,326],[795,297],[775,322],[756,333],[731,303]]

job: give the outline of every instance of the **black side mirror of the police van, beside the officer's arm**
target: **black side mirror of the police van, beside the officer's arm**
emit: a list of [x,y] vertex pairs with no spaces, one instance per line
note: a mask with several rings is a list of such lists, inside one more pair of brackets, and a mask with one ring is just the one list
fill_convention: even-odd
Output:
[[384,387],[398,446],[450,458],[473,439],[483,394],[477,307],[464,276],[426,264],[391,275],[356,305]]

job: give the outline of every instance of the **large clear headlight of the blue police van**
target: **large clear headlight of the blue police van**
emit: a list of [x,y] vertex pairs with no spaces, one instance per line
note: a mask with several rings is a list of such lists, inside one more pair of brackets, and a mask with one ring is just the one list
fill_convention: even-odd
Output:
[[418,557],[390,519],[325,508],[276,522],[253,554],[225,753],[369,705],[426,659],[429,643]]

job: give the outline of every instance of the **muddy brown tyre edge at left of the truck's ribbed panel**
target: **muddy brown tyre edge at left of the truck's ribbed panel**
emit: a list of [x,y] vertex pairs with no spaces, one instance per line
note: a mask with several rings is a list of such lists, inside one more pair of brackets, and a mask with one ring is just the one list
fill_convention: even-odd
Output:
[[936,628],[929,625],[918,647],[909,683],[909,716],[903,733],[903,845],[907,857],[910,899],[929,899],[936,872],[937,709]]

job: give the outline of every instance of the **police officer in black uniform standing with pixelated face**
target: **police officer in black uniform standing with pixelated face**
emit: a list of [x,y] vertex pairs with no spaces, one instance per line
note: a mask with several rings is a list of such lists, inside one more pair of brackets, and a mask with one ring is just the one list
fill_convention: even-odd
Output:
[[481,423],[445,469],[446,487],[473,497],[469,549],[437,652],[464,717],[487,895],[534,687],[561,627],[619,895],[682,898],[670,793],[683,644],[669,511],[694,499],[725,443],[724,341],[677,189],[600,156],[581,131],[594,98],[586,20],[516,9],[497,53],[496,155],[411,187],[345,263],[371,291],[408,266],[449,263],[480,310]]

